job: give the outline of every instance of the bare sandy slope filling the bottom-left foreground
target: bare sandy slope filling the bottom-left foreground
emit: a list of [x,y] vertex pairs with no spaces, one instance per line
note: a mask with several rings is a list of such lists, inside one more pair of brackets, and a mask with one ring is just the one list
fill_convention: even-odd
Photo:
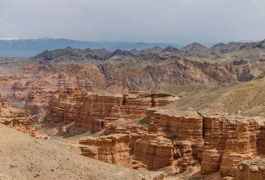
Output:
[[[160,180],[158,174],[110,165],[0,124],[0,174],[16,180]],[[160,175],[159,175],[160,176]]]

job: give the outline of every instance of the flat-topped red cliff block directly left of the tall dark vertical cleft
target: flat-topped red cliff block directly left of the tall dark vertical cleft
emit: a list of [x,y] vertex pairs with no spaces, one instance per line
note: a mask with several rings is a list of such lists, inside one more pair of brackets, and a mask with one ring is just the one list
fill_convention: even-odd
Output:
[[[156,108],[155,108],[156,109]],[[203,144],[202,117],[195,111],[172,111],[149,109],[148,118],[154,119],[157,128],[162,128],[166,136],[178,136],[194,144]]]

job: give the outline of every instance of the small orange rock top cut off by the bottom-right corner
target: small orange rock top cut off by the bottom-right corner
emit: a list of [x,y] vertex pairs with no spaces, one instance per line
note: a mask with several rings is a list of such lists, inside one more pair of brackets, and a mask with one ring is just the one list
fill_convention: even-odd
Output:
[[265,180],[265,159],[243,161],[232,180]]

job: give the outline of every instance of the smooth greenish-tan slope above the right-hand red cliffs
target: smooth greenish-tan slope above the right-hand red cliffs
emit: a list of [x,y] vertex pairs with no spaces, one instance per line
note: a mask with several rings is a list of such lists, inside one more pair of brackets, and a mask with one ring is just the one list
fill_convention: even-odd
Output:
[[193,84],[157,86],[182,97],[164,109],[215,111],[232,115],[265,116],[265,78],[227,86]]

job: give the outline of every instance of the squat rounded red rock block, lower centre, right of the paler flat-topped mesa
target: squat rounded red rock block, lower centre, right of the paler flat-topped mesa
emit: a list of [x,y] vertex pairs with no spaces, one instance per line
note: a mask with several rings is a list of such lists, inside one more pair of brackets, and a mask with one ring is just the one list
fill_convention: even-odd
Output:
[[[156,131],[155,128],[153,131]],[[159,169],[173,162],[173,144],[161,130],[144,133],[134,146],[134,160],[147,165],[148,170]]]

